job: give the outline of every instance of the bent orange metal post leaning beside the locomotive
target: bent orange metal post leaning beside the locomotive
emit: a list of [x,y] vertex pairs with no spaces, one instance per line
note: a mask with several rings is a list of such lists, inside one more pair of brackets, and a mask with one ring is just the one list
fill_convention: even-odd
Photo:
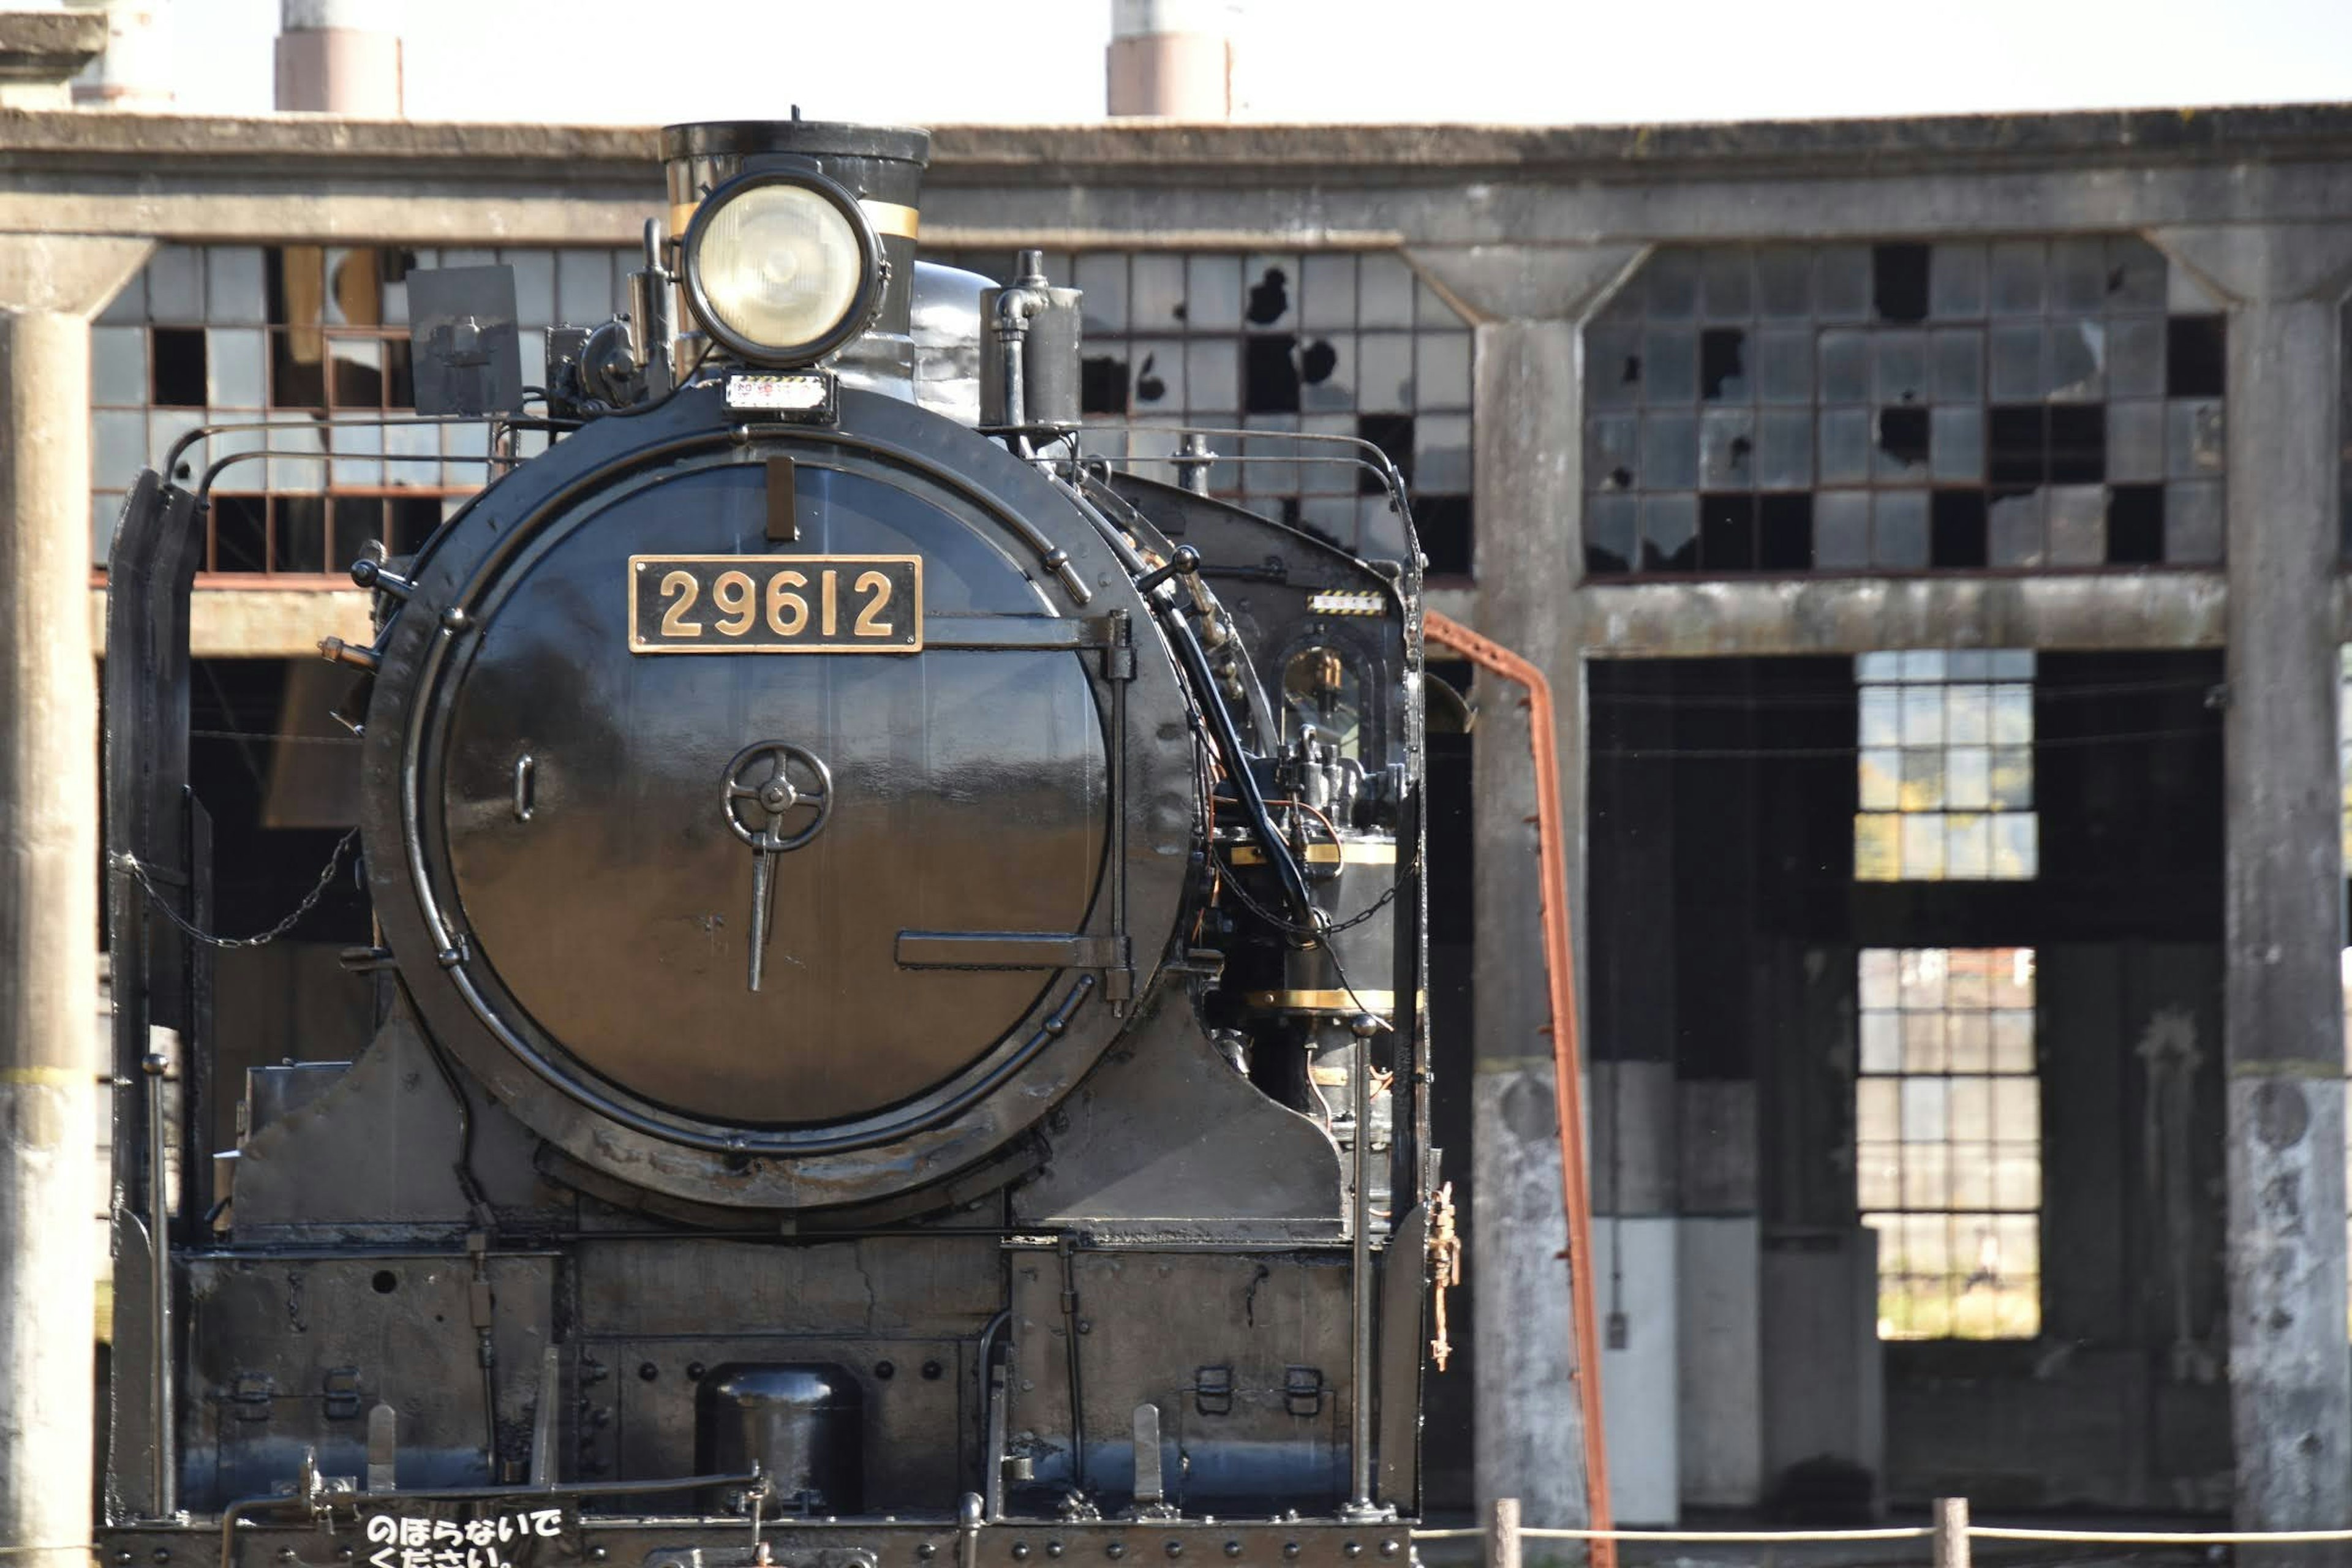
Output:
[[[1599,1319],[1592,1307],[1592,1194],[1585,1187],[1583,1048],[1576,1037],[1576,945],[1569,933],[1569,870],[1559,820],[1559,731],[1552,682],[1501,642],[1468,625],[1423,616],[1423,637],[1454,649],[1479,670],[1526,689],[1526,731],[1536,750],[1536,858],[1543,889],[1543,973],[1552,997],[1552,1095],[1559,1119],[1559,1206],[1569,1220],[1569,1302],[1576,1326],[1576,1406],[1585,1427],[1585,1514],[1595,1530],[1611,1528],[1609,1443],[1602,1427]],[[1616,1542],[1592,1542],[1592,1568],[1616,1568]]]

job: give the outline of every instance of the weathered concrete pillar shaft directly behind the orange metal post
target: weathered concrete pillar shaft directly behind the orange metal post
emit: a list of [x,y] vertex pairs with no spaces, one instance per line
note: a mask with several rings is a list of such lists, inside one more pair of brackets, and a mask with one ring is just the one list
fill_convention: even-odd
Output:
[[[1581,668],[1569,635],[1571,536],[1581,442],[1576,329],[1494,322],[1477,329],[1477,578],[1484,630],[1552,679],[1562,724],[1564,820],[1581,832]],[[1477,1060],[1470,1084],[1470,1267],[1477,1272],[1477,1493],[1519,1497],[1529,1523],[1585,1521],[1578,1361],[1571,1347],[1559,1124],[1552,1100],[1550,999],[1543,980],[1536,790],[1526,708],[1479,679],[1472,736],[1477,799]],[[1583,907],[1583,856],[1569,856],[1569,905]],[[1585,1366],[1585,1375],[1597,1368]]]

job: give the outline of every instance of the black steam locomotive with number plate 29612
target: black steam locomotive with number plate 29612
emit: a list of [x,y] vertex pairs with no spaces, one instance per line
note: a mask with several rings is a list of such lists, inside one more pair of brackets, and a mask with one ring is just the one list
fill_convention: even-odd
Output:
[[[510,280],[412,275],[416,418],[508,458],[322,646],[358,1060],[216,1081],[188,590],[233,458],[141,475],[113,1561],[1411,1556],[1418,552],[1211,498],[1237,433],[1091,456],[1077,292],[917,261],[927,153],[670,127],[536,414]],[[1404,510],[1371,447],[1287,461]]]

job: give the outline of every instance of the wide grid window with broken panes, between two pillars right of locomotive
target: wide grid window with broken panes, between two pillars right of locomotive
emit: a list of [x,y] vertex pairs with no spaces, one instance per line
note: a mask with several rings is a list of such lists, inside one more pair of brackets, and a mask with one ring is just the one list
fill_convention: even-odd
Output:
[[1585,571],[2211,567],[2223,360],[2129,235],[1661,249],[1585,329]]

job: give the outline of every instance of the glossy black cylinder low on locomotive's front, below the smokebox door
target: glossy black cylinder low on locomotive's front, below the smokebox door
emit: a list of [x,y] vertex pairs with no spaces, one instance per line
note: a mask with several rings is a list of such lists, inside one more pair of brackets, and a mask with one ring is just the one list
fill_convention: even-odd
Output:
[[[694,1467],[769,1481],[767,1512],[866,1507],[866,1389],[830,1361],[729,1363],[694,1392]],[[727,1507],[715,1500],[715,1507]]]

